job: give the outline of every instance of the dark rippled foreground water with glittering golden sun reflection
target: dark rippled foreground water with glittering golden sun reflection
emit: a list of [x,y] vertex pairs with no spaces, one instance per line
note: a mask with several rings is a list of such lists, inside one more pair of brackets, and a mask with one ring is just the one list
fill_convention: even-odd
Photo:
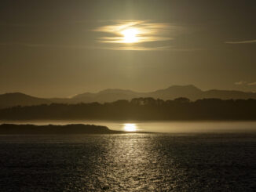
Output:
[[256,191],[256,134],[0,136],[1,191]]

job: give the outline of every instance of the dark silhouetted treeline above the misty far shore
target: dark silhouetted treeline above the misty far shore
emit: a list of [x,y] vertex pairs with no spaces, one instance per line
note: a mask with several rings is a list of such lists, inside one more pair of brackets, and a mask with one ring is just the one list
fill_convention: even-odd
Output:
[[136,98],[113,103],[43,104],[0,110],[2,120],[256,120],[256,100]]

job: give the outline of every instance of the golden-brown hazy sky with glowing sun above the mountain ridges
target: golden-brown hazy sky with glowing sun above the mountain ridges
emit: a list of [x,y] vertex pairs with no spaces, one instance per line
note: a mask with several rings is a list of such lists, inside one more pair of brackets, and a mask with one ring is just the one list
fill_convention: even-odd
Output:
[[256,1],[2,0],[0,93],[256,92]]

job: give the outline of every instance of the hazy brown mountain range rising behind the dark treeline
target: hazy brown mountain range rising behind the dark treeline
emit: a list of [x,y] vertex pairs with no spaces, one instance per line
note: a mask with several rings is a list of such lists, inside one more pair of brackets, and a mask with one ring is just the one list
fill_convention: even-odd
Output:
[[218,98],[221,100],[247,100],[256,99],[256,92],[241,92],[211,89],[203,91],[194,85],[173,85],[167,89],[159,89],[154,92],[133,92],[124,89],[105,89],[101,92],[85,92],[71,98],[38,98],[24,93],[13,92],[0,95],[0,108],[14,106],[31,106],[50,103],[105,103],[116,100],[131,100],[137,97],[153,97],[162,100],[174,100],[178,97],[186,97],[189,100]]

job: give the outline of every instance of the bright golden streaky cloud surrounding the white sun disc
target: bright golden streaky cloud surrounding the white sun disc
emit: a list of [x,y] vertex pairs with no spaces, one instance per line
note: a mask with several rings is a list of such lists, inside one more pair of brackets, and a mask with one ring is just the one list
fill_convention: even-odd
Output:
[[[105,21],[107,22],[107,21]],[[173,40],[177,31],[182,31],[182,27],[167,23],[155,23],[148,20],[111,20],[112,24],[105,24],[93,29],[100,35],[97,42],[107,44],[107,49],[120,50],[161,50],[170,45],[153,46],[148,42],[170,42]],[[109,23],[109,22],[108,22]],[[101,22],[104,24],[104,22]],[[134,30],[136,34],[135,41],[127,43],[124,32]],[[172,37],[170,37],[172,35]],[[141,45],[146,43],[147,45]],[[120,46],[117,46],[117,45]]]

